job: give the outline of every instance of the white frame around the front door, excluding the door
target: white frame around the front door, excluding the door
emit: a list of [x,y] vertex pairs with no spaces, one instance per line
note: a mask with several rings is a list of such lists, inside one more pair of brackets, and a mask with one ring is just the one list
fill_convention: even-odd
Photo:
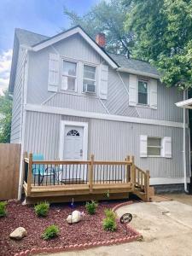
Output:
[[83,137],[83,156],[82,160],[87,160],[87,148],[88,148],[88,123],[83,122],[73,122],[73,121],[61,121],[60,126],[60,145],[59,145],[59,157],[60,160],[63,158],[63,150],[64,150],[64,143],[65,143],[65,126],[66,125],[73,125],[79,126],[84,128],[84,137]]

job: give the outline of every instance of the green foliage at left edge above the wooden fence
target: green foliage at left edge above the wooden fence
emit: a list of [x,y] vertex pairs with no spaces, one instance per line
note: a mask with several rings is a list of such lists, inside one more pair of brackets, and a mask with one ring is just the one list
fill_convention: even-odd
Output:
[[9,91],[4,90],[4,95],[0,96],[0,143],[10,142],[11,112],[12,98]]

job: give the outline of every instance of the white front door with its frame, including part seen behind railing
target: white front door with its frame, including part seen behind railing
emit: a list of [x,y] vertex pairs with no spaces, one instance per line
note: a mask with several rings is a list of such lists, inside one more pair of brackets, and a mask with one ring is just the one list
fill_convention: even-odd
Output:
[[[87,160],[88,124],[61,121],[60,160]],[[80,183],[86,180],[87,166],[67,164],[60,166],[59,180]]]

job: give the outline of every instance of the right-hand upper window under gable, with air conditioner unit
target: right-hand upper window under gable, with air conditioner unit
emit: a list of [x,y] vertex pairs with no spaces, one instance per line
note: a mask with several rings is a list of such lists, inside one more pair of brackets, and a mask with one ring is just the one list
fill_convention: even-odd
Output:
[[84,65],[83,91],[96,92],[96,67]]

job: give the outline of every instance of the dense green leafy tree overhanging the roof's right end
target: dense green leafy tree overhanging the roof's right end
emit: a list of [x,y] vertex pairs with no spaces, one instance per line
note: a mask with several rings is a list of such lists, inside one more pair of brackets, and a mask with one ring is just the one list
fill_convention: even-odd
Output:
[[134,32],[133,55],[159,68],[162,82],[192,88],[192,1],[125,0],[125,21]]

